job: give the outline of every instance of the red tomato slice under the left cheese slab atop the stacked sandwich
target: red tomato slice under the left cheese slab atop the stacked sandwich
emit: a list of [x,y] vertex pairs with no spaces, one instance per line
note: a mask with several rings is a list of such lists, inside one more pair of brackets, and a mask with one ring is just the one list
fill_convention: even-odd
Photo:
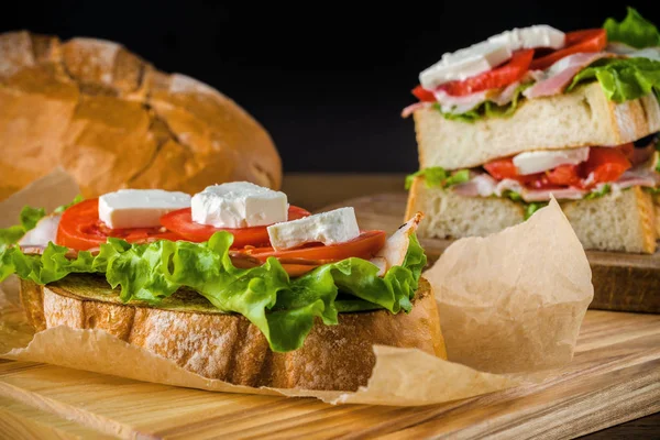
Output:
[[452,96],[464,96],[482,90],[506,87],[529,70],[534,50],[517,51],[506,64],[462,81],[450,81],[438,87]]

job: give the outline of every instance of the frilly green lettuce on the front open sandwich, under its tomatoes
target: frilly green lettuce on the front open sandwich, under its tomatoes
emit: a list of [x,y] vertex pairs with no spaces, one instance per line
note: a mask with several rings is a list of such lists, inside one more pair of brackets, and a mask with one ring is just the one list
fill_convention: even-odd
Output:
[[[340,311],[386,309],[410,311],[426,255],[415,235],[402,266],[378,277],[378,268],[352,257],[326,264],[289,278],[271,257],[261,266],[238,268],[229,249],[233,235],[217,232],[206,243],[167,240],[129,244],[108,239],[98,255],[50,243],[43,255],[26,255],[18,246],[0,252],[0,280],[11,274],[47,284],[72,273],[102,273],[123,301],[140,299],[157,305],[180,287],[195,289],[215,307],[237,312],[254,323],[271,349],[286,352],[300,348],[316,318],[337,324]],[[341,299],[338,295],[341,293]]]

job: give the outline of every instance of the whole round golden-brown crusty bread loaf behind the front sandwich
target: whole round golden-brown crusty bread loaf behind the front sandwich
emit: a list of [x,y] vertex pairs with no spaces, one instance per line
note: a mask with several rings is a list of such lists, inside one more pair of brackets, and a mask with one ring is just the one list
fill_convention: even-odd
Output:
[[282,180],[271,136],[234,101],[100,40],[0,34],[0,199],[56,165],[85,197]]

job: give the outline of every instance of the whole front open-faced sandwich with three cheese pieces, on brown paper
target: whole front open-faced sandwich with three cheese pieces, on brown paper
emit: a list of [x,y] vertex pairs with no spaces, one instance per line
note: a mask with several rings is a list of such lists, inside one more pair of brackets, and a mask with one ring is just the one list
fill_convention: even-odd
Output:
[[206,377],[352,391],[373,344],[444,358],[420,213],[392,237],[245,182],[122,189],[0,231],[35,330],[102,329]]

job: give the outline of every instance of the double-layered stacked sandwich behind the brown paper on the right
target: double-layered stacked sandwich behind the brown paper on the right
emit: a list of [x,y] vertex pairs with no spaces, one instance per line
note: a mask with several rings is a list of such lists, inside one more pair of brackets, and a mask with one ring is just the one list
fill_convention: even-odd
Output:
[[[514,29],[444,54],[413,92],[427,238],[486,235],[553,196],[586,249],[652,253],[660,234],[660,33],[622,22]],[[654,206],[656,204],[656,206]],[[658,215],[660,219],[660,215]]]

